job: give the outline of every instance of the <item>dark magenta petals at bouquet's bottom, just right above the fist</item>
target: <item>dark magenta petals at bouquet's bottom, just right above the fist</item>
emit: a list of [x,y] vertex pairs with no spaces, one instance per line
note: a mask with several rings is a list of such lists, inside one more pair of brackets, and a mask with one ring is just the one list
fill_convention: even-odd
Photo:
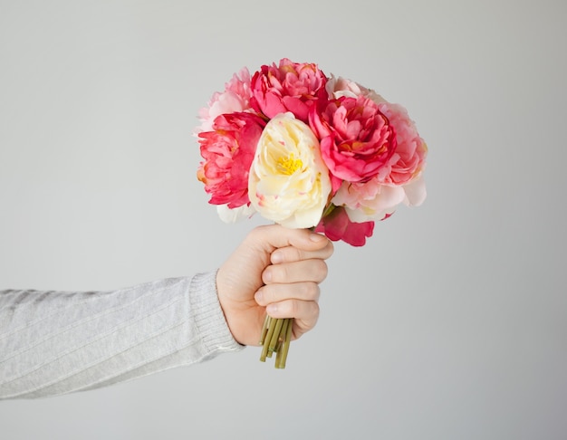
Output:
[[343,207],[335,207],[331,214],[325,215],[315,228],[315,232],[324,233],[332,241],[342,240],[353,246],[366,244],[372,236],[374,222],[353,223]]

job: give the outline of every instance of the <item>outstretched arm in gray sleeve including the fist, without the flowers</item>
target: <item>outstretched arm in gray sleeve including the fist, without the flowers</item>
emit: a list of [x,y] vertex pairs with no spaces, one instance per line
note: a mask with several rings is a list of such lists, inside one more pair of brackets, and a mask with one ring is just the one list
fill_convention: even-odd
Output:
[[257,345],[267,311],[319,316],[332,244],[255,228],[217,272],[112,292],[0,292],[0,399],[52,397],[140,378]]

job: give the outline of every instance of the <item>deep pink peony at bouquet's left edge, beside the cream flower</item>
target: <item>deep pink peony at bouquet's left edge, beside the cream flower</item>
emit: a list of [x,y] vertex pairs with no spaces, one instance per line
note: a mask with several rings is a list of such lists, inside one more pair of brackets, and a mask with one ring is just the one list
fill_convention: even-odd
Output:
[[201,156],[197,178],[205,184],[213,205],[244,206],[248,199],[248,174],[265,122],[252,113],[216,117],[212,131],[199,133]]

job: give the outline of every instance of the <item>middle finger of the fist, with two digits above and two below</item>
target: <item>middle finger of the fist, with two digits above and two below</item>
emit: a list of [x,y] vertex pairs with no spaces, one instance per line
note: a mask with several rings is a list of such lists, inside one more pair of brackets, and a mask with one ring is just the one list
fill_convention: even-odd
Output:
[[327,263],[321,259],[271,264],[264,269],[262,281],[264,284],[322,282],[327,277],[328,272]]

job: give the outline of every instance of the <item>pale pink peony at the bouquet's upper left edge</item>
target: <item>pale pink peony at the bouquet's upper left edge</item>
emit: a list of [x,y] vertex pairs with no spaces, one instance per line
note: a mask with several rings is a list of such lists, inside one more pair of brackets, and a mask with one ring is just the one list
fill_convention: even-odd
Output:
[[250,72],[243,68],[235,73],[232,79],[225,84],[225,91],[216,91],[208,102],[207,107],[199,110],[201,126],[198,131],[210,131],[213,121],[223,113],[236,111],[251,111],[250,98]]

